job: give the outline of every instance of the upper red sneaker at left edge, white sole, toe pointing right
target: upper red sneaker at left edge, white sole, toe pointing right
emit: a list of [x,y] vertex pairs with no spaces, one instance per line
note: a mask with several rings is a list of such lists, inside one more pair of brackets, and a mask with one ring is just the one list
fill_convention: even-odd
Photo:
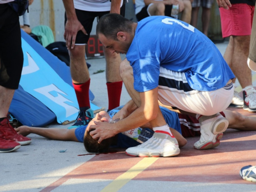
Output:
[[8,118],[4,118],[4,120],[0,122],[0,137],[11,139],[18,142],[20,145],[28,145],[31,143],[30,138],[17,134],[12,125],[10,125]]

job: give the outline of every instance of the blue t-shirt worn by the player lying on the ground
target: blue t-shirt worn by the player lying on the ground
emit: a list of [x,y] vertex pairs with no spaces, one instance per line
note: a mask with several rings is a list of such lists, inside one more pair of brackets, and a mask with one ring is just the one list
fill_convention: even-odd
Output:
[[[113,109],[109,112],[110,117],[112,118],[120,109],[122,109],[123,106],[119,106],[116,109]],[[160,106],[161,112],[163,114],[163,117],[166,121],[166,123],[169,125],[169,127],[172,127],[176,131],[178,131],[181,134],[181,127],[180,127],[180,121],[179,121],[179,116],[176,112],[170,111],[166,108],[163,108]],[[87,125],[85,126],[80,126],[76,128],[75,130],[75,136],[79,142],[83,142],[83,136],[84,133],[86,132]],[[147,130],[151,131],[151,130]],[[137,146],[140,144],[139,142],[135,141],[134,139],[123,135],[122,133],[118,134],[118,139],[117,139],[117,145],[116,147],[119,148],[128,148],[132,146]]]

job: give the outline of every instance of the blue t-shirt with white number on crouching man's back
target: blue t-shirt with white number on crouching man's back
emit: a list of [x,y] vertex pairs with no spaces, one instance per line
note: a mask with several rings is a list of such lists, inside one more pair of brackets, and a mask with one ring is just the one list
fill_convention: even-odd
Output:
[[203,33],[180,20],[150,16],[138,22],[126,54],[134,73],[134,88],[158,87],[160,66],[184,72],[189,86],[199,91],[223,88],[234,75],[218,48]]

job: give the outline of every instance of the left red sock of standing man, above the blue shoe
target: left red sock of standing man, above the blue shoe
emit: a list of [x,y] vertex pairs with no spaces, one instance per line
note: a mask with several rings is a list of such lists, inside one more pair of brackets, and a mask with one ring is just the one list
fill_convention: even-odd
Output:
[[90,99],[89,99],[90,80],[91,79],[89,79],[87,82],[84,82],[82,84],[73,83],[79,108],[85,108],[85,107],[91,108]]

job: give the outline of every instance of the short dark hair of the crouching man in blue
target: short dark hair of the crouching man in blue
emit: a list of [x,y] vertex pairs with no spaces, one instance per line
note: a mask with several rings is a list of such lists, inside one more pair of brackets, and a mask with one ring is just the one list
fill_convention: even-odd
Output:
[[107,38],[117,40],[117,33],[119,31],[132,33],[133,22],[123,16],[110,13],[100,17],[96,28],[96,34],[103,34]]

